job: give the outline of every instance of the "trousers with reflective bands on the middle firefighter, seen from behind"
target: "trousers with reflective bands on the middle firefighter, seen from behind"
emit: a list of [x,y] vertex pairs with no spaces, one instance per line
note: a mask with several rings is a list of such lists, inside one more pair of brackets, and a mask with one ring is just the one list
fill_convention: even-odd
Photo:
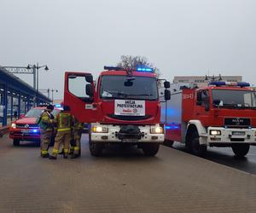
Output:
[[71,140],[71,131],[57,131],[55,136],[55,146],[53,147],[52,155],[57,157],[59,153],[60,145],[63,143],[64,146],[64,155],[67,156],[69,150],[69,142]]

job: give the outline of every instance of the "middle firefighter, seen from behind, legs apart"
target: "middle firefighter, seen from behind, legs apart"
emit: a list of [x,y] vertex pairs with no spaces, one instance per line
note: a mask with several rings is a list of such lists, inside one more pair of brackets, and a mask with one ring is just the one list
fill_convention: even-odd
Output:
[[56,115],[55,118],[57,135],[55,136],[55,145],[53,147],[52,155],[49,159],[57,159],[60,144],[64,146],[64,158],[67,158],[69,142],[71,140],[71,128],[73,126],[73,116],[67,106],[63,106],[63,110]]

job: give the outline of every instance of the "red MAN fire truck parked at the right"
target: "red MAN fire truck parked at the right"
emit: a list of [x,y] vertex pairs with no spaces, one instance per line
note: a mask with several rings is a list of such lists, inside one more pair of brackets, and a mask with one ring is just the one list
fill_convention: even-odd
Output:
[[172,100],[162,105],[166,141],[182,142],[196,155],[210,146],[231,147],[237,157],[245,156],[256,144],[256,92],[249,86],[211,82],[172,92]]

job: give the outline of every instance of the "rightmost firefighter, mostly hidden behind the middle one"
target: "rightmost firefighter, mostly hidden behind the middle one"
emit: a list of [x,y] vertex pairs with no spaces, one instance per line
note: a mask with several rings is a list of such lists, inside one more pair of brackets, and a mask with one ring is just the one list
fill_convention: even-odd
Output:
[[[79,120],[73,117],[73,154],[71,158],[79,158],[81,155],[81,135],[84,129],[84,124],[79,122]],[[72,152],[72,150],[71,150]]]

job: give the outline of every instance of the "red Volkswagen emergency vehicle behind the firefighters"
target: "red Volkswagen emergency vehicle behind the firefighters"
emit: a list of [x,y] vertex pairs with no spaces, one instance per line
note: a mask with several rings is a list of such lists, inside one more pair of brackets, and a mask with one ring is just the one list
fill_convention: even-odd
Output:
[[[33,107],[26,112],[26,115],[22,115],[11,124],[9,138],[13,139],[14,146],[19,146],[20,141],[40,141],[40,129],[36,121],[45,108]],[[55,107],[52,114],[56,116],[59,112],[61,112],[61,108]]]

